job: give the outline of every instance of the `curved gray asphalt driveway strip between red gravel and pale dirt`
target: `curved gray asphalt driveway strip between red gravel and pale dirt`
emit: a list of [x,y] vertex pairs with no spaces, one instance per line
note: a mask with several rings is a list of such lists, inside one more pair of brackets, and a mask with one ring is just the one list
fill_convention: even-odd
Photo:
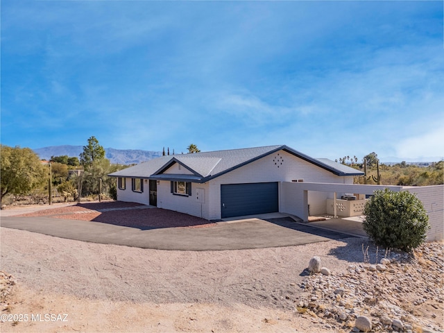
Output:
[[101,244],[159,250],[239,250],[295,246],[350,235],[296,223],[290,218],[218,222],[206,228],[140,229],[108,223],[16,217],[1,219],[1,227],[39,232],[55,237]]

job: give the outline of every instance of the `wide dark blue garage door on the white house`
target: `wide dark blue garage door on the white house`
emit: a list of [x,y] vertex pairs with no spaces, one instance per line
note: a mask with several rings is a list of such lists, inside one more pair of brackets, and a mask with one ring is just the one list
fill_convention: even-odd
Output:
[[221,185],[222,218],[278,211],[278,182]]

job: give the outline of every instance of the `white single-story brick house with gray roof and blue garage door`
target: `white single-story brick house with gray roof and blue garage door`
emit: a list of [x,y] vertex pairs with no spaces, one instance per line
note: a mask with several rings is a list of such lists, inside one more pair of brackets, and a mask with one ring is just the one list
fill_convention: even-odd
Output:
[[[218,220],[282,212],[284,182],[353,184],[362,175],[288,146],[265,146],[162,156],[109,176],[117,177],[117,200]],[[324,214],[331,195],[310,191],[310,214]]]

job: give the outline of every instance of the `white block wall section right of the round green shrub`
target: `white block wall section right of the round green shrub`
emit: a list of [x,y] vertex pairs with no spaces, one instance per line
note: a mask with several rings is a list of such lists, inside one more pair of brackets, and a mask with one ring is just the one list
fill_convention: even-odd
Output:
[[402,190],[416,194],[429,215],[432,228],[427,234],[427,241],[442,241],[444,239],[444,185],[402,187]]

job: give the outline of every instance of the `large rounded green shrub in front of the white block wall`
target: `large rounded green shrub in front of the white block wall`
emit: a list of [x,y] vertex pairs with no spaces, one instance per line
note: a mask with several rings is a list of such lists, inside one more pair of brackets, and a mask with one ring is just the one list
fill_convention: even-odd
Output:
[[427,239],[429,216],[409,191],[377,190],[364,208],[364,230],[377,246],[410,251]]

